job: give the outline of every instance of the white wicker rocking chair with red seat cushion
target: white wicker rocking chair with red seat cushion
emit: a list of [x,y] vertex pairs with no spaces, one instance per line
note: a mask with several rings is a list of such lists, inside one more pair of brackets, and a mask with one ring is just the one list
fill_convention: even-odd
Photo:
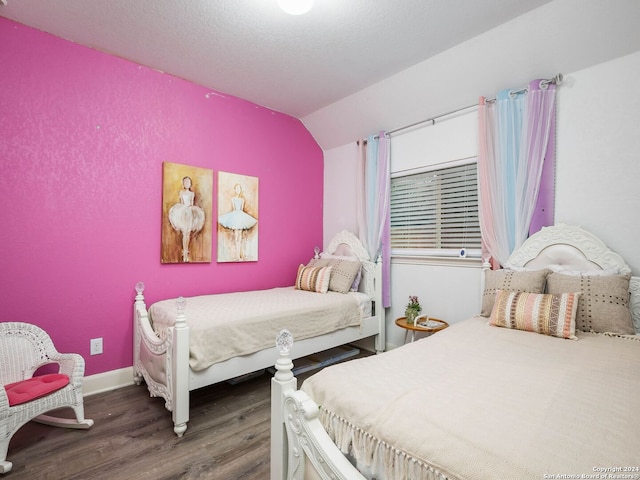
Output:
[[[33,377],[50,363],[59,365],[58,373]],[[84,359],[58,353],[44,330],[28,323],[0,323],[0,473],[11,470],[9,442],[28,421],[82,429],[93,425],[84,418],[83,375]],[[43,415],[62,407],[72,408],[77,420]]]

